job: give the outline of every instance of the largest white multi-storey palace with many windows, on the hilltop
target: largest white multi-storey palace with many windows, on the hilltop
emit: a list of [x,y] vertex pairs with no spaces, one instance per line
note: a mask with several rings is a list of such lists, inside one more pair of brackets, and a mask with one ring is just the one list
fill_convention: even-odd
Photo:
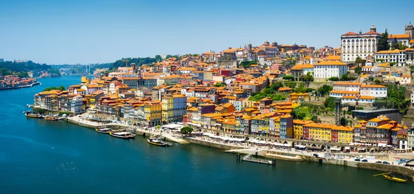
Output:
[[377,33],[377,29],[373,25],[369,32],[359,34],[348,32],[341,36],[341,59],[345,63],[354,63],[357,56],[366,59],[367,56],[377,52],[378,41],[380,41],[381,33]]

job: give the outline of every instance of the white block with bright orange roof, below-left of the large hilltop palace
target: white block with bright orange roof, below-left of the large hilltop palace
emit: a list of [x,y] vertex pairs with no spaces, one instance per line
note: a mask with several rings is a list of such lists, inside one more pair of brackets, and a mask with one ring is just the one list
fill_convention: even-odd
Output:
[[348,72],[348,65],[340,61],[322,61],[314,65],[315,80],[326,80],[331,77],[340,78]]

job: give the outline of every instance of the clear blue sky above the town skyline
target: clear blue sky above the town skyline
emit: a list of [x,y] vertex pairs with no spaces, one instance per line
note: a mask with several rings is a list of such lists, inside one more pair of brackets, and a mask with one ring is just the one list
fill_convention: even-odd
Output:
[[[106,63],[253,45],[337,47],[349,31],[403,34],[409,1],[0,0],[0,58]],[[392,8],[396,5],[395,8]]]

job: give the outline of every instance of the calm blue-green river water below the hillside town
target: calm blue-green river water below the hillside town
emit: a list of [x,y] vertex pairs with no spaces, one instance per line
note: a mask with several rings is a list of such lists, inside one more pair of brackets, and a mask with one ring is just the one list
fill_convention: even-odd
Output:
[[235,155],[194,144],[163,148],[112,138],[67,122],[21,112],[46,87],[0,91],[0,193],[412,193],[414,184],[373,177],[375,171],[277,160],[237,163]]

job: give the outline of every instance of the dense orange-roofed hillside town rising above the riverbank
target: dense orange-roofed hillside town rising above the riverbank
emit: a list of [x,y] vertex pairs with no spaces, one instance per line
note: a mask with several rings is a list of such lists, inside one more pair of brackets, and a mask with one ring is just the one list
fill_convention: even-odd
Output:
[[308,160],[411,181],[413,25],[401,32],[372,25],[338,36],[340,47],[264,41],[148,64],[124,58],[77,85],[35,94],[26,116],[246,154],[237,160]]

